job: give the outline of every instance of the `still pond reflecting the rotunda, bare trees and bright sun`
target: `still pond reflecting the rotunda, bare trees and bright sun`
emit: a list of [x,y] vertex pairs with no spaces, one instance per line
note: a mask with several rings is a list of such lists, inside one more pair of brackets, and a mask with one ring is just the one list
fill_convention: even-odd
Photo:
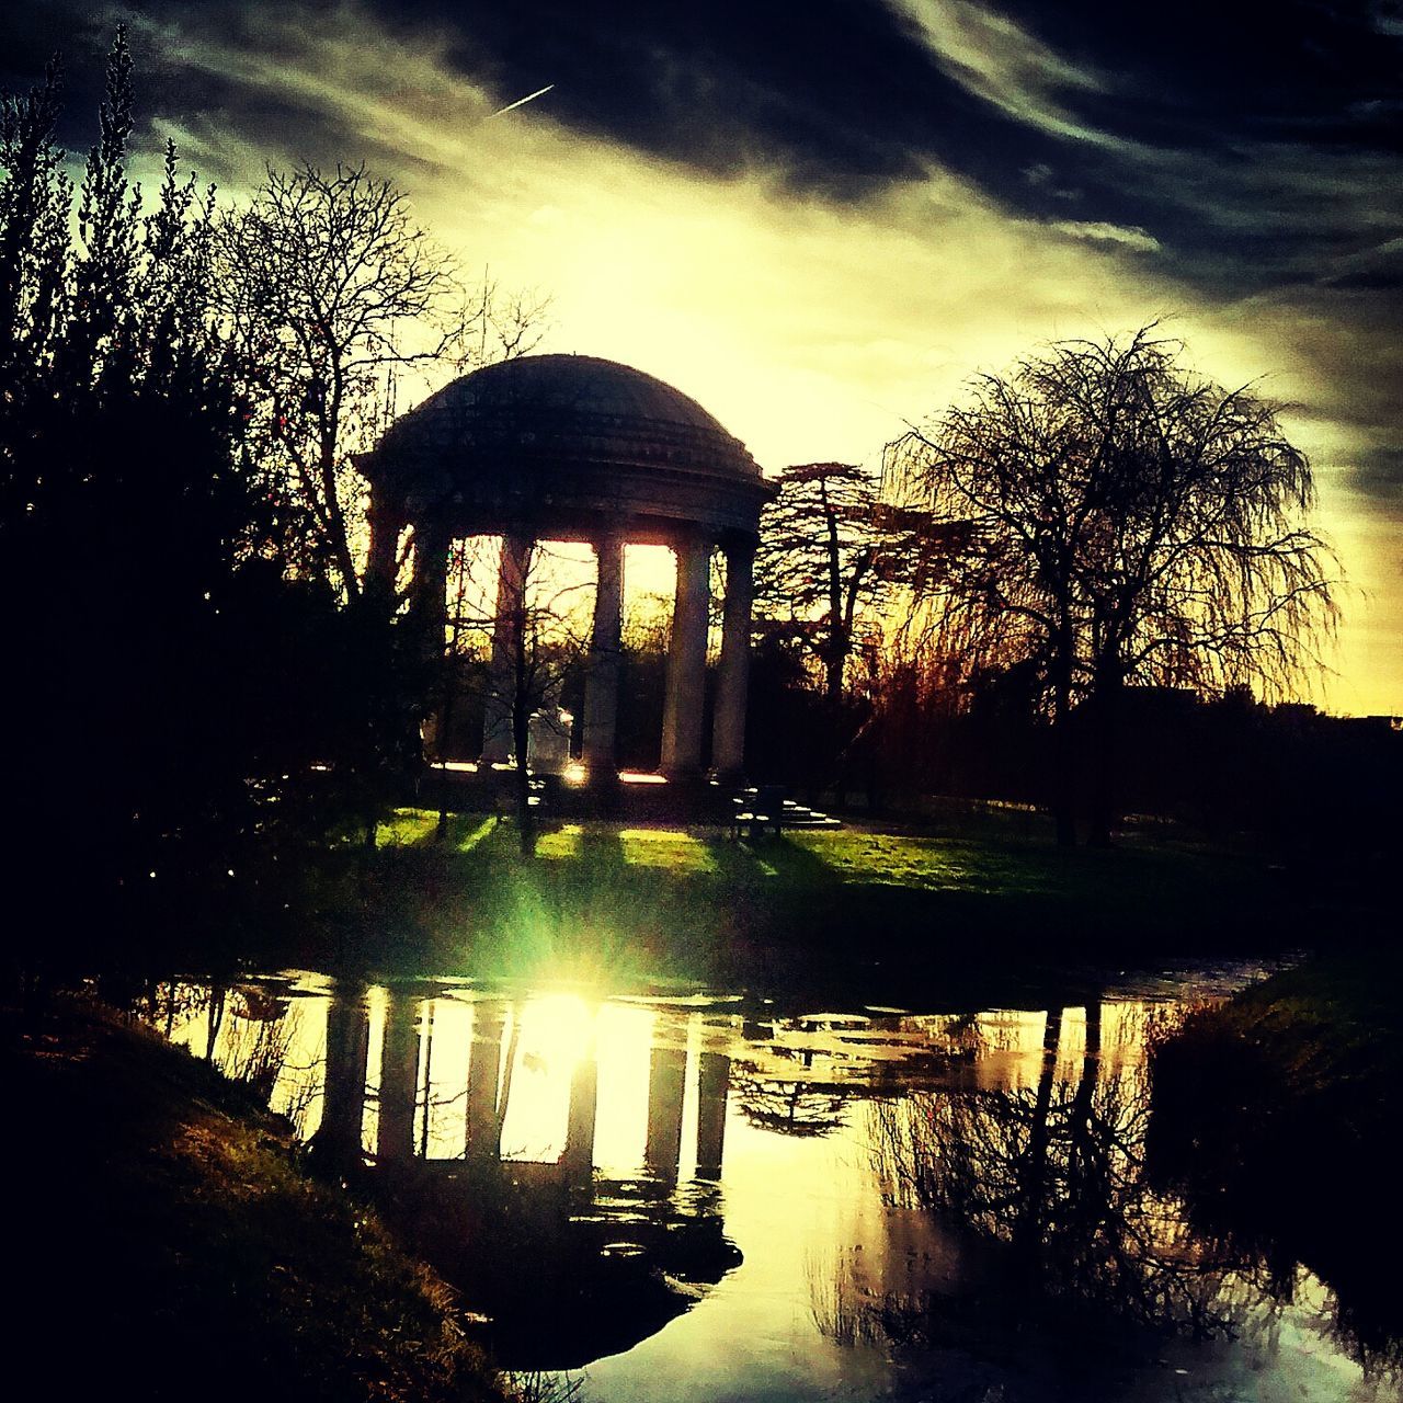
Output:
[[1146,1152],[1149,1049],[1260,974],[798,1009],[282,972],[167,982],[146,1012],[554,1396],[1393,1399],[1333,1292],[1195,1233]]

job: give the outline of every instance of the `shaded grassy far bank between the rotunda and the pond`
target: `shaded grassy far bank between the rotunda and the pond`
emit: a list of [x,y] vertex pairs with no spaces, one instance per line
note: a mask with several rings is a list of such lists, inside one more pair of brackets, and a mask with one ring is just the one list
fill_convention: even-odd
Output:
[[1066,850],[1045,829],[1026,811],[759,842],[718,825],[556,822],[526,857],[511,819],[449,815],[441,832],[436,814],[400,810],[375,849],[359,835],[271,831],[196,870],[173,854],[90,906],[69,892],[60,939],[17,941],[11,960],[59,985],[299,967],[783,985],[818,1002],[829,991],[881,1002],[892,984],[944,995],[951,978],[995,962],[1270,958],[1313,947],[1322,912],[1347,936],[1378,923],[1376,899],[1357,885],[1254,849],[1146,826],[1108,850]]

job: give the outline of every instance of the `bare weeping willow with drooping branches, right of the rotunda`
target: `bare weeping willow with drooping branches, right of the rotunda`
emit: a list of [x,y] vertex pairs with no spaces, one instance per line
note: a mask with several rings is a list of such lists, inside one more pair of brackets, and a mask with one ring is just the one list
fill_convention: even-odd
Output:
[[1153,325],[1058,342],[978,376],[890,449],[934,519],[960,526],[941,581],[951,607],[1037,668],[1063,843],[1073,710],[1094,737],[1093,840],[1106,840],[1128,685],[1288,696],[1337,622],[1309,462],[1251,386],[1223,389],[1183,355]]

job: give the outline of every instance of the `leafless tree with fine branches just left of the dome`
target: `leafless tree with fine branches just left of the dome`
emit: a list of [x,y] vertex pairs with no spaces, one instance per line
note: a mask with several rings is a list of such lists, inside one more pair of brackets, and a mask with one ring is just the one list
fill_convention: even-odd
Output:
[[546,303],[460,283],[403,191],[365,166],[269,168],[219,224],[224,311],[250,436],[275,470],[300,570],[359,593],[365,485],[352,456],[394,411],[396,377],[525,355]]

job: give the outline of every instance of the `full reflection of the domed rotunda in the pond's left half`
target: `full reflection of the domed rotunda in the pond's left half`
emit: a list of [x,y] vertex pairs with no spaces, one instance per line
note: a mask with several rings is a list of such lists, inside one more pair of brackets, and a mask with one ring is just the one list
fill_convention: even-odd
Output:
[[725,1016],[316,976],[163,985],[150,1012],[372,1191],[508,1367],[626,1350],[741,1260]]

